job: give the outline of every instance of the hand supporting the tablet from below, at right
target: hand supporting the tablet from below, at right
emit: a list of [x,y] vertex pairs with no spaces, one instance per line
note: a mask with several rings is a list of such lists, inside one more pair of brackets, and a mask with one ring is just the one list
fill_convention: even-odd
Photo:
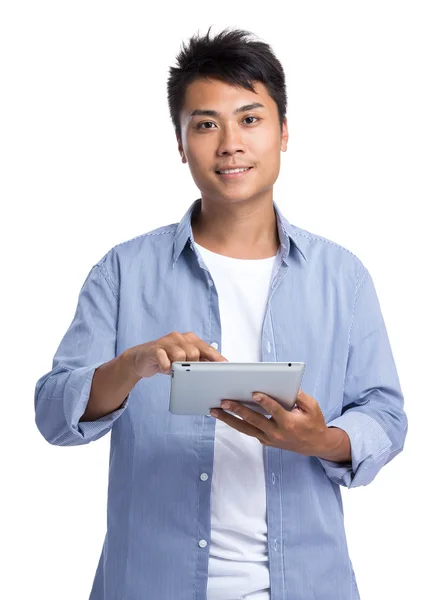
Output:
[[[300,390],[296,408],[288,411],[266,394],[259,393],[259,397],[261,400],[258,404],[272,415],[270,418],[235,400],[223,400],[221,406],[241,419],[220,409],[212,409],[211,414],[237,431],[257,438],[263,446],[291,450],[304,456],[321,454],[325,448],[328,426],[315,398]],[[254,395],[252,399],[255,400]]]

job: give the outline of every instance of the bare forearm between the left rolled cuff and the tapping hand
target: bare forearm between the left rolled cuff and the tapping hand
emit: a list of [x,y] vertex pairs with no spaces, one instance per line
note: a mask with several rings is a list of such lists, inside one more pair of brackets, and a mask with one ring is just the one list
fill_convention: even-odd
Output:
[[142,377],[132,371],[131,349],[95,370],[88,405],[80,421],[95,421],[121,407]]

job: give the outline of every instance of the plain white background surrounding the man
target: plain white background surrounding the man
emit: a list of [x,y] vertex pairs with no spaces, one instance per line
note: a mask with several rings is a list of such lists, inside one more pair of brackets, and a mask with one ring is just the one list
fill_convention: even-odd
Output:
[[178,222],[200,197],[177,151],[166,81],[181,42],[211,24],[253,32],[282,62],[289,145],[274,199],[291,223],[363,261],[388,328],[409,433],[369,486],[342,488],[362,600],[440,597],[440,6],[2,4],[2,597],[89,597],[110,435],[50,446],[34,423],[35,384],[91,267]]

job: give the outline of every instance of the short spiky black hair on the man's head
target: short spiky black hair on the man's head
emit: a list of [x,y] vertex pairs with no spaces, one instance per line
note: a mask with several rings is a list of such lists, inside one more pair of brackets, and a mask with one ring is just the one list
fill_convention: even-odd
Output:
[[272,48],[262,41],[248,40],[253,35],[250,31],[229,27],[211,40],[211,27],[205,36],[191,37],[187,47],[182,43],[182,50],[176,56],[178,66],[169,69],[169,112],[178,139],[181,141],[180,112],[187,86],[196,79],[209,77],[252,92],[255,92],[252,82],[260,81],[277,104],[282,130],[287,107],[286,82],[283,67]]

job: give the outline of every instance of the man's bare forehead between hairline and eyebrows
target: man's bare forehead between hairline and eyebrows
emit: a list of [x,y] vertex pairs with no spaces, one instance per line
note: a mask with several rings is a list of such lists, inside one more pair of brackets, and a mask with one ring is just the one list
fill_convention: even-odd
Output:
[[228,117],[236,108],[256,102],[263,105],[259,110],[272,110],[275,102],[266,87],[260,81],[253,85],[256,93],[219,79],[196,79],[186,89],[182,115],[189,119],[194,110],[215,110]]

